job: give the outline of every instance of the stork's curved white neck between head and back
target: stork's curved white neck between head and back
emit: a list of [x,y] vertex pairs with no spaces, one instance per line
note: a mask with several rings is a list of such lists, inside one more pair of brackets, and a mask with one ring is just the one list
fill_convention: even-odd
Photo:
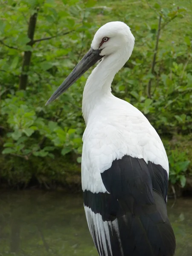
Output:
[[82,101],[82,112],[86,124],[94,108],[103,102],[112,104],[111,100],[114,97],[111,93],[111,83],[115,74],[131,55],[126,53],[116,52],[104,57],[87,79]]

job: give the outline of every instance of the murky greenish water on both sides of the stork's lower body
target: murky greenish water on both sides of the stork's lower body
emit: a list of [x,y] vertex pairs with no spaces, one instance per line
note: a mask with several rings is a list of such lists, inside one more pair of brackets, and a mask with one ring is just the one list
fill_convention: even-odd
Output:
[[[192,199],[168,212],[176,256],[192,256]],[[61,192],[0,192],[0,256],[98,256],[81,195]]]

